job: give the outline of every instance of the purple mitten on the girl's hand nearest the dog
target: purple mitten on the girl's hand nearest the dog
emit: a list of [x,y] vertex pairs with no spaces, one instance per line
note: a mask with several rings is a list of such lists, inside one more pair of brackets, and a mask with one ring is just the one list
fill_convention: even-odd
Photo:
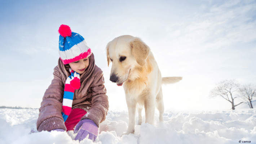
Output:
[[94,142],[98,136],[99,128],[92,120],[84,119],[76,125],[74,133],[77,132],[78,134],[76,135],[75,140],[79,140],[80,142],[89,134],[89,139]]

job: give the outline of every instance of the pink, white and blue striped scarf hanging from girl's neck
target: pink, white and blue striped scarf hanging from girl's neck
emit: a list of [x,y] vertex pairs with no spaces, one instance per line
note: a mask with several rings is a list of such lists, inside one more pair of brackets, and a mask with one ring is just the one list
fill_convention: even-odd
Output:
[[74,92],[75,90],[79,89],[81,85],[79,73],[76,73],[71,68],[69,68],[69,71],[71,73],[71,76],[69,76],[66,80],[61,112],[64,122],[67,120],[67,117],[70,114]]

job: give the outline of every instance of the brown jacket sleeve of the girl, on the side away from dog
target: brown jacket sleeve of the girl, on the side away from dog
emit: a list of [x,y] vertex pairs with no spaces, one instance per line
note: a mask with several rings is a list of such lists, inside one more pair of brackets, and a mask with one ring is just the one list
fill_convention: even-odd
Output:
[[64,84],[58,67],[54,68],[53,76],[52,83],[45,91],[41,107],[39,108],[39,117],[36,122],[38,131],[66,130],[61,114]]

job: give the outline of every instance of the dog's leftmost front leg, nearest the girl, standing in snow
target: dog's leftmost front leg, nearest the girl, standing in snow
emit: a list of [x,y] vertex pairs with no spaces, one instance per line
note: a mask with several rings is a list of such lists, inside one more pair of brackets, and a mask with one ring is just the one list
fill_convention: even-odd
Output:
[[135,130],[135,112],[136,112],[136,100],[129,96],[126,96],[126,103],[128,107],[129,124],[126,134],[133,134]]

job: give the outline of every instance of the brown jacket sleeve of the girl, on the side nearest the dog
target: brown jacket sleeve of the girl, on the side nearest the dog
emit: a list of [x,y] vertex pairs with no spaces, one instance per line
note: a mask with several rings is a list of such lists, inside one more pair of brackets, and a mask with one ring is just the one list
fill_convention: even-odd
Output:
[[81,120],[90,119],[96,123],[99,127],[99,124],[106,119],[107,112],[109,111],[109,100],[106,95],[107,90],[104,86],[104,77],[103,72],[100,71],[94,77],[92,85],[92,107],[85,114]]

